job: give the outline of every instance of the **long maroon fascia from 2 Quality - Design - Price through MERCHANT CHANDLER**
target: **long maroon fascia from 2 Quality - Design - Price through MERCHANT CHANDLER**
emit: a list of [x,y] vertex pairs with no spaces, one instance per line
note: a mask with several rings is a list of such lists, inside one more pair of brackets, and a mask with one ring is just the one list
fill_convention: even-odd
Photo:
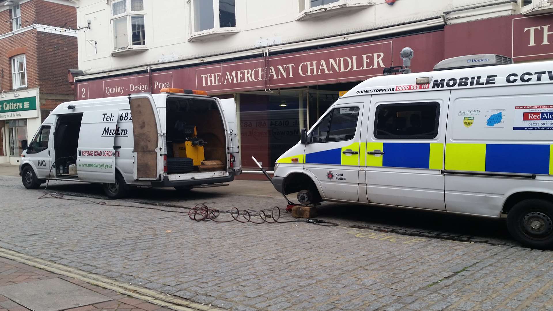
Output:
[[420,55],[413,60],[414,71],[432,70],[443,56],[444,33],[411,35],[153,74],[78,82],[76,98],[84,100],[138,92],[159,93],[164,87],[225,94],[363,81],[372,76],[382,75],[384,67],[398,65],[400,60],[394,59],[393,56],[399,55],[405,46],[413,48],[418,52],[417,55]]

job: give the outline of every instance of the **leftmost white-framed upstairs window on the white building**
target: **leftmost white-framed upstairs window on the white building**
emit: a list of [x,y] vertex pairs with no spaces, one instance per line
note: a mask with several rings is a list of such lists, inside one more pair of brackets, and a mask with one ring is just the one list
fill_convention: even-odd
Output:
[[144,0],[117,0],[111,3],[113,49],[146,45]]

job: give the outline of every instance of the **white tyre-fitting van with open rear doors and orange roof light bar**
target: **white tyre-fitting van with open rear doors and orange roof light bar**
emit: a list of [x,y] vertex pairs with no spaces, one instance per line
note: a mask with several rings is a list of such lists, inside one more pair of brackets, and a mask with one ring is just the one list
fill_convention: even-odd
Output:
[[[231,182],[242,172],[234,100],[161,91],[61,103],[23,146],[23,185],[100,183],[107,196],[121,198],[131,186],[189,190]],[[180,157],[173,149],[181,144],[201,151],[201,159]]]

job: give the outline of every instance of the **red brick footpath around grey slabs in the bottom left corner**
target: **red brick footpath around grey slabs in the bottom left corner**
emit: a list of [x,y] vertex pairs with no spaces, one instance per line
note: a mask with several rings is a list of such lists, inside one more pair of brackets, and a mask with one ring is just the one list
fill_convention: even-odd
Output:
[[[95,291],[112,299],[102,303],[66,309],[65,311],[170,311],[166,308],[160,308],[159,305],[129,298],[109,289],[93,286],[77,279],[59,276],[58,274],[43,271],[38,268],[24,265],[23,263],[0,258],[0,287],[51,278],[65,279],[65,281],[90,289],[91,291]],[[0,311],[29,311],[29,309],[0,295]]]

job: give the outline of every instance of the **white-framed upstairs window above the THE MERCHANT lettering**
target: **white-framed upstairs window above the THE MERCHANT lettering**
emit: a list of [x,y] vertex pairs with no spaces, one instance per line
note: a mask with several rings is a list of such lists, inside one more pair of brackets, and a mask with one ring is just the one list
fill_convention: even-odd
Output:
[[194,30],[218,30],[236,27],[234,0],[192,0]]

